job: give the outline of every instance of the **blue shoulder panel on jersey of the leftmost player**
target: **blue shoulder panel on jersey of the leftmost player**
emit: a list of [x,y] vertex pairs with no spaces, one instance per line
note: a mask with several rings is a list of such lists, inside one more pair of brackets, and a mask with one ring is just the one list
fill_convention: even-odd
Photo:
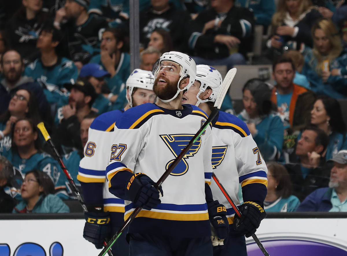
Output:
[[112,110],[102,113],[96,117],[92,122],[90,128],[98,131],[113,131],[115,129],[115,122],[124,113],[122,110]]

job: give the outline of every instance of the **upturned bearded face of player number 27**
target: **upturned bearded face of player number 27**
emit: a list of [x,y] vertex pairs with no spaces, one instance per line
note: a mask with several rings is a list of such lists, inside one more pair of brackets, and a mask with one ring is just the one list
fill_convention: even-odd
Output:
[[180,65],[172,61],[161,61],[153,85],[153,92],[162,100],[171,99],[177,92]]

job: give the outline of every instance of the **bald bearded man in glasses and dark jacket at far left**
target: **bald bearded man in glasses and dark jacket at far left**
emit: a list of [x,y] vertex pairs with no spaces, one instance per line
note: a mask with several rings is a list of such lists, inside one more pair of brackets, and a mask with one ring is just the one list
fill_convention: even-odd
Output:
[[3,75],[3,79],[0,80],[0,114],[6,112],[12,95],[19,89],[27,89],[35,95],[41,117],[49,119],[51,108],[41,85],[34,82],[31,77],[22,76],[24,71],[22,56],[15,50],[6,51],[0,59],[0,68]]

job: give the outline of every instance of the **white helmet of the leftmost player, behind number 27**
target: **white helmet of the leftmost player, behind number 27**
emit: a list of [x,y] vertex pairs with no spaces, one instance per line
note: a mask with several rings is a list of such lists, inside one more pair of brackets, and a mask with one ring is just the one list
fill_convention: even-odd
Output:
[[134,69],[127,79],[126,87],[127,91],[127,101],[129,102],[130,108],[133,107],[133,90],[134,88],[141,88],[147,90],[153,90],[154,76],[151,71],[142,70],[139,68]]

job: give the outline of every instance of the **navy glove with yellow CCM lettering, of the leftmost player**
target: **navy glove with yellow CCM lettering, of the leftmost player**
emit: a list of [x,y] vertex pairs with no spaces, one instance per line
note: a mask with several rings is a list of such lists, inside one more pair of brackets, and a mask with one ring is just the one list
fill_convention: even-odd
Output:
[[110,216],[106,212],[84,213],[86,223],[84,224],[83,237],[92,242],[96,249],[102,249],[105,238],[111,236]]

